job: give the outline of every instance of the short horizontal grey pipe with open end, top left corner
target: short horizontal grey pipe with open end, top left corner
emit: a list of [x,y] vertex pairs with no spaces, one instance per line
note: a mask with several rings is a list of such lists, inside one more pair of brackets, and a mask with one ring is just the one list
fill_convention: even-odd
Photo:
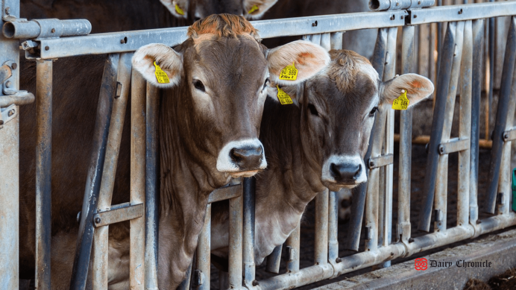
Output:
[[59,38],[61,36],[88,35],[91,23],[86,19],[15,19],[4,23],[2,33],[6,38]]

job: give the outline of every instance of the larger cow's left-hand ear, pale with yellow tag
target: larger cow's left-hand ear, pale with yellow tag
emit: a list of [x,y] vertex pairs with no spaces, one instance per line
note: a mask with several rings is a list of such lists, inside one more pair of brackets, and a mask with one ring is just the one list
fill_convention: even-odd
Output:
[[[154,62],[159,69],[167,74],[169,83],[158,83]],[[183,55],[165,44],[147,44],[134,53],[133,69],[141,73],[143,78],[152,85],[160,88],[170,88],[178,85],[183,75]]]

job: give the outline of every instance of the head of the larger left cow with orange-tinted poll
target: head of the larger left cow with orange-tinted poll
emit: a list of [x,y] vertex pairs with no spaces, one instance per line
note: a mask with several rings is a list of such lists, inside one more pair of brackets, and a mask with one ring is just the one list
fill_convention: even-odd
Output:
[[[268,51],[244,17],[220,14],[196,22],[189,38],[171,49],[142,46],[133,68],[155,86],[174,94],[175,119],[183,147],[220,186],[231,176],[252,176],[267,166],[258,140],[269,77],[294,62],[297,83],[330,61],[318,45],[296,41]],[[267,55],[267,58],[265,57]],[[170,83],[156,80],[154,61]],[[166,100],[163,100],[165,103]],[[163,106],[163,105],[162,105]],[[174,137],[175,138],[175,137]]]

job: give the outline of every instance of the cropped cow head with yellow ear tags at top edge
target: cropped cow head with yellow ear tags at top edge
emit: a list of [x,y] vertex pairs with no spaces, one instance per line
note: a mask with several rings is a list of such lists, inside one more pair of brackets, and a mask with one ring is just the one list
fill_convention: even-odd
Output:
[[231,13],[260,19],[278,0],[160,0],[177,18],[199,20],[211,14]]

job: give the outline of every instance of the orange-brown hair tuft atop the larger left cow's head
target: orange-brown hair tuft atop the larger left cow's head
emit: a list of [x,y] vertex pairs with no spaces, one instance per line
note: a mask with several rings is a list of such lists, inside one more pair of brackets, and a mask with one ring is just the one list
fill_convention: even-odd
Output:
[[188,27],[188,37],[197,38],[203,34],[218,37],[235,38],[238,35],[250,35],[259,40],[258,30],[243,16],[233,14],[213,14],[198,20]]

